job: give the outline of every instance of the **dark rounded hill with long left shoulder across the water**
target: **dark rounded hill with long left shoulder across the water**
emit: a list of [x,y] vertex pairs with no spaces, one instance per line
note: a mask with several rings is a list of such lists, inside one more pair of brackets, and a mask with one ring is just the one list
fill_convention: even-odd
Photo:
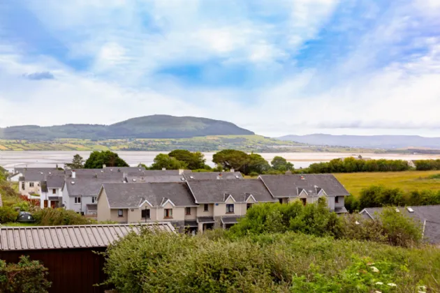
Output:
[[199,117],[152,115],[138,117],[109,126],[66,124],[62,126],[11,126],[0,128],[3,140],[47,141],[59,138],[89,140],[117,138],[183,138],[206,135],[254,135],[233,123]]

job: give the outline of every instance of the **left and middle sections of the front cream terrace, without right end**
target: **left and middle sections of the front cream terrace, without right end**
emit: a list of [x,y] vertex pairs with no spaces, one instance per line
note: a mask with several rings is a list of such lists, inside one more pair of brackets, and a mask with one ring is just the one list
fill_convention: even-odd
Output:
[[180,231],[203,232],[237,223],[253,204],[277,202],[258,179],[103,183],[98,220],[169,221]]

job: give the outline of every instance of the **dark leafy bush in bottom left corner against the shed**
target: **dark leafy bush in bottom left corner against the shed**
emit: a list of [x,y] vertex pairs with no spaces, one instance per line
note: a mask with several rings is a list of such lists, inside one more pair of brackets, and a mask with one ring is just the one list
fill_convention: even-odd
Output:
[[47,274],[43,264],[23,255],[18,264],[6,264],[0,260],[0,292],[47,292],[51,285],[46,279]]

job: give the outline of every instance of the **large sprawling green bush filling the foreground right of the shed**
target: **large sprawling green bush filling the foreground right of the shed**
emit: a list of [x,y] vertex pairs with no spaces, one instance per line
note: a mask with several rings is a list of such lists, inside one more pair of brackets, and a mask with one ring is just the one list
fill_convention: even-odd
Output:
[[396,248],[294,232],[235,240],[225,235],[129,234],[104,253],[105,284],[120,293],[440,289],[437,248]]

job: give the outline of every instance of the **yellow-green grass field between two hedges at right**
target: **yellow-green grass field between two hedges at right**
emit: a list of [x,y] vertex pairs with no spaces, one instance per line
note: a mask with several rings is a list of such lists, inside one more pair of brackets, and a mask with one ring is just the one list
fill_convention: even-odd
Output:
[[440,190],[440,179],[430,179],[440,171],[365,172],[335,174],[349,193],[358,196],[362,188],[382,184],[389,188],[411,190]]

